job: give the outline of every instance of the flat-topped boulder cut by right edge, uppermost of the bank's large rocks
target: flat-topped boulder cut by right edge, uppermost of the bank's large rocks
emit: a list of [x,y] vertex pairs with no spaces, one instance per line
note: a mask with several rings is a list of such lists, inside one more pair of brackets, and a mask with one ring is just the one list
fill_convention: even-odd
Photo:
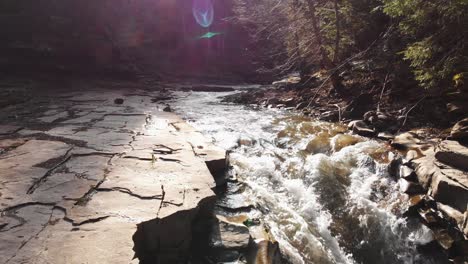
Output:
[[468,148],[456,141],[442,141],[437,146],[435,157],[442,163],[468,171]]

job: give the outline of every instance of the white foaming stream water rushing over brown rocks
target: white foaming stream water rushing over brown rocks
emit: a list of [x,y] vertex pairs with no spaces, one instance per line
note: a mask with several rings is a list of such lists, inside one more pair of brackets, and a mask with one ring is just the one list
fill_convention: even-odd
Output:
[[176,92],[170,104],[229,151],[243,188],[224,202],[253,205],[246,214],[265,223],[290,263],[444,263],[421,250],[431,231],[403,217],[408,198],[388,175],[385,143],[297,113],[221,102],[232,93]]

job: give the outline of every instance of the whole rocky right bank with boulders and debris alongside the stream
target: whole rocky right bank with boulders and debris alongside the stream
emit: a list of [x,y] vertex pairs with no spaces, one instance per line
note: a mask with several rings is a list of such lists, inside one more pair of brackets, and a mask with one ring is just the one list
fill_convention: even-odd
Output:
[[[350,100],[333,96],[304,100],[298,97],[304,91],[291,87],[294,84],[268,86],[228,96],[224,101],[289,108],[318,119],[347,124],[354,134],[388,142],[394,152],[389,173],[399,181],[400,191],[410,198],[405,215],[417,217],[431,228],[436,242],[430,245],[443,248],[450,260],[468,261],[468,120],[463,119],[468,112],[459,103],[450,99],[446,116],[442,117],[445,121],[432,126],[431,122],[437,121],[430,120],[429,113],[424,117],[420,113],[411,116],[413,109],[397,111],[397,106],[388,105],[379,110],[370,109],[372,94]],[[457,97],[458,102],[463,96],[459,91],[449,97]],[[431,111],[443,112],[438,109],[439,104],[440,100]],[[447,128],[448,120],[456,124]]]

